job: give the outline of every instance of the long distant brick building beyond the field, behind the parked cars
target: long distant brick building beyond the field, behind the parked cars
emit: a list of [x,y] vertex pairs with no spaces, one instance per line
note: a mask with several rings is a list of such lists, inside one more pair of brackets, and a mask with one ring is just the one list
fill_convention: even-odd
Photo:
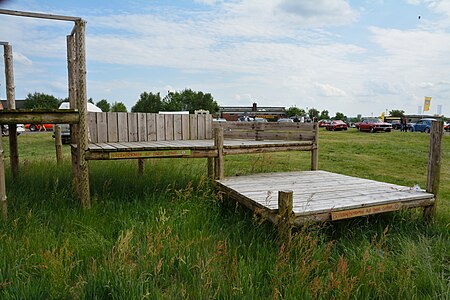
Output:
[[227,121],[237,121],[239,117],[257,117],[276,121],[286,117],[286,108],[284,106],[258,107],[256,103],[253,103],[252,106],[221,106],[219,116]]

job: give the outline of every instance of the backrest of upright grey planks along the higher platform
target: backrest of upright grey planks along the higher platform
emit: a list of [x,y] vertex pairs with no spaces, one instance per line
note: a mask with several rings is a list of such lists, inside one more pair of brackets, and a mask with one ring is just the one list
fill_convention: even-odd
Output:
[[91,143],[212,139],[212,117],[156,113],[89,113]]

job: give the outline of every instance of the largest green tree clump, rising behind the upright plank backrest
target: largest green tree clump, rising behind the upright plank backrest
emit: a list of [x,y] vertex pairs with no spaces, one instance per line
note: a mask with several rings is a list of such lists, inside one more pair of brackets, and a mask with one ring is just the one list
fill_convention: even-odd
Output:
[[169,92],[162,99],[161,109],[166,111],[189,111],[190,113],[203,109],[214,114],[219,111],[219,104],[217,104],[210,93],[205,94],[185,89],[182,92]]

